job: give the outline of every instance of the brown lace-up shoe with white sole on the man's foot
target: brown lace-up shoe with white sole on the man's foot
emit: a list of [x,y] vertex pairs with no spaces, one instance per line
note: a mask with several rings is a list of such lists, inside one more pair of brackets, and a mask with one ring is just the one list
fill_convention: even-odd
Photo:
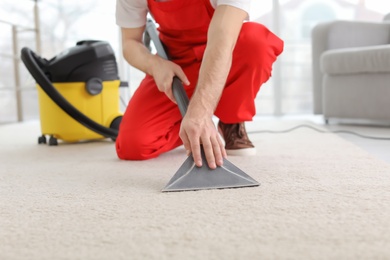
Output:
[[225,149],[228,155],[255,155],[256,148],[248,138],[245,123],[225,124],[218,122],[218,131],[225,140]]

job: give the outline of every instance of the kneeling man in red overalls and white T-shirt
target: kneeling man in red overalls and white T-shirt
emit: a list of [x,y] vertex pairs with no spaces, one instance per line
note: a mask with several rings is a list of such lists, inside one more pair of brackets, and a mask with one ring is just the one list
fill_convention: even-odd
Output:
[[[214,169],[227,154],[255,152],[244,122],[256,113],[254,99],[283,42],[264,26],[245,22],[249,6],[250,0],[117,0],[123,55],[146,73],[122,119],[119,158],[149,159],[184,144],[201,166],[202,145]],[[147,12],[159,25],[170,61],[142,43]],[[174,76],[190,97],[183,119],[172,94]]]

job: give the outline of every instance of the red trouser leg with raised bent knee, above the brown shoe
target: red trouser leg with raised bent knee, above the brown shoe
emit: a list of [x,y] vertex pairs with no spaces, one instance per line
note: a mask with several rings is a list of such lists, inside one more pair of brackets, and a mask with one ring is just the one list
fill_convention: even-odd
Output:
[[271,76],[283,41],[258,23],[244,23],[233,52],[233,65],[215,115],[224,123],[251,121],[255,98]]

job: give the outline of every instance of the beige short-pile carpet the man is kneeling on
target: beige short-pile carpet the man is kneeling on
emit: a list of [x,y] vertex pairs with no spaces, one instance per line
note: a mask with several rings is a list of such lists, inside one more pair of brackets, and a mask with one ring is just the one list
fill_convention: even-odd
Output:
[[125,162],[39,134],[0,126],[0,259],[390,259],[390,165],[336,135],[252,135],[229,160],[260,187],[161,193],[183,148]]

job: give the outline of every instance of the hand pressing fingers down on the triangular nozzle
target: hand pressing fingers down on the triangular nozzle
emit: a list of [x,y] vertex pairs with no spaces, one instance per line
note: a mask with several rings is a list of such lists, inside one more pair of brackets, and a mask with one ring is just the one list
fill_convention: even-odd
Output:
[[181,123],[180,138],[198,167],[202,166],[201,145],[211,169],[222,166],[223,158],[227,157],[214,122],[208,116],[187,111]]

